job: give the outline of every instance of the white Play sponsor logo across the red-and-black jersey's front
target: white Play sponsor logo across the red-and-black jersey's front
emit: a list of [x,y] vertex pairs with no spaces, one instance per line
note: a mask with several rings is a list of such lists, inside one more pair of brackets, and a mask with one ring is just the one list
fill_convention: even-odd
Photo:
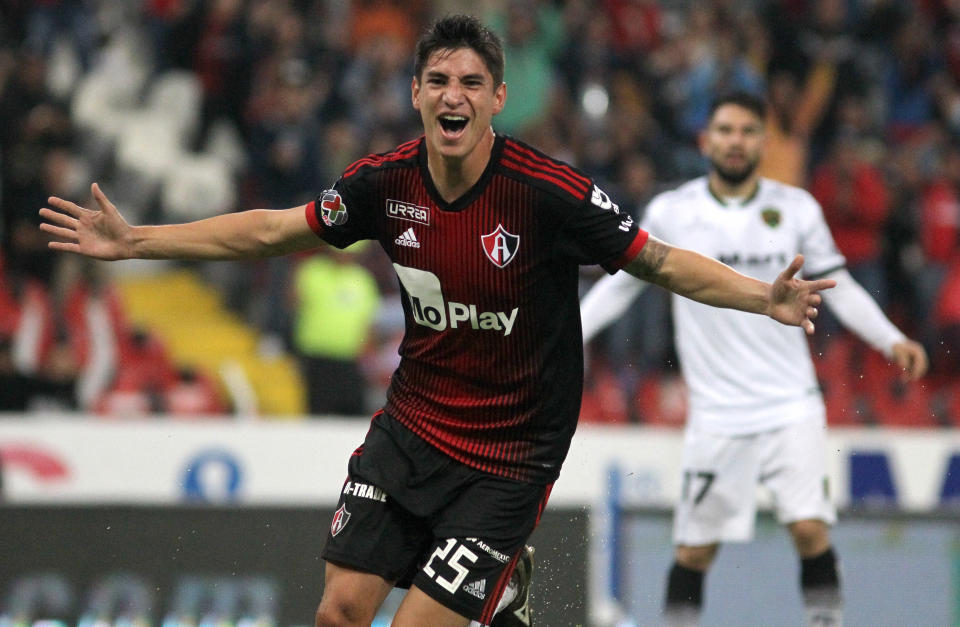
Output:
[[476,331],[499,331],[504,337],[513,331],[519,307],[511,311],[480,311],[476,305],[446,301],[440,278],[432,272],[393,264],[410,302],[413,320],[437,331],[460,327]]

